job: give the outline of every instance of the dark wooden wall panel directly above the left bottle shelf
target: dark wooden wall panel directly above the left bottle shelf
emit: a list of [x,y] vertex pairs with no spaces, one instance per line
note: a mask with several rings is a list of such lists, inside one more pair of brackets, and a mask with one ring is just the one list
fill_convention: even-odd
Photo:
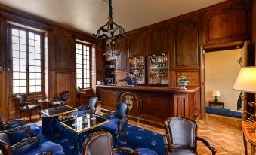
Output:
[[147,55],[147,32],[137,32],[129,35],[130,56]]

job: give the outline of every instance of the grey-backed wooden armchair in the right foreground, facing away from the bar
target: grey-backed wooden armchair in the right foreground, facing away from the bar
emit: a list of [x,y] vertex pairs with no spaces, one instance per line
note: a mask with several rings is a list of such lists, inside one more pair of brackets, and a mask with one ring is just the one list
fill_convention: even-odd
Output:
[[197,154],[197,140],[202,141],[211,153],[216,154],[216,150],[209,141],[197,135],[197,124],[194,120],[182,117],[171,117],[165,120],[167,135],[164,137],[165,154]]

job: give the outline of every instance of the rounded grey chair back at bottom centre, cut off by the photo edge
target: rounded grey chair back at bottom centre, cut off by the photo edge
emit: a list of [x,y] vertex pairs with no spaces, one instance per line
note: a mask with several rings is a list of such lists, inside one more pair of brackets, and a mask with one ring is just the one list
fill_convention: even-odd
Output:
[[113,155],[112,136],[109,132],[94,132],[84,142],[82,155],[105,154]]

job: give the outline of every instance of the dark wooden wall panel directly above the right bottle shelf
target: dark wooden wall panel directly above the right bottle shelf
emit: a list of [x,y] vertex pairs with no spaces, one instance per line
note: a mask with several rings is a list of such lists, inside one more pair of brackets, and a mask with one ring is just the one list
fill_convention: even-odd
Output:
[[154,29],[150,29],[149,40],[150,50],[149,54],[162,54],[168,53],[170,48],[170,26],[158,26]]

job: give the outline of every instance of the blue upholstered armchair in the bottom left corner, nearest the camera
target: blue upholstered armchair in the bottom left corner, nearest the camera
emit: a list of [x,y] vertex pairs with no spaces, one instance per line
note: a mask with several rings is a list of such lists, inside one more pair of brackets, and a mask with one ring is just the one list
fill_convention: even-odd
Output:
[[59,144],[47,141],[40,143],[39,137],[25,138],[17,144],[11,145],[10,138],[5,133],[0,134],[0,150],[5,155],[64,155],[63,148]]

